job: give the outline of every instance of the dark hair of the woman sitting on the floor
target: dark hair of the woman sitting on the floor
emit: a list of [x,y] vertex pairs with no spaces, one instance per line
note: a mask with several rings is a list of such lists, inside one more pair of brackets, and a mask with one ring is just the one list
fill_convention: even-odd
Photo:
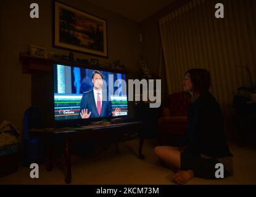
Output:
[[186,71],[185,75],[187,73],[189,73],[194,91],[201,93],[209,90],[211,85],[211,77],[208,70],[202,68],[193,68]]

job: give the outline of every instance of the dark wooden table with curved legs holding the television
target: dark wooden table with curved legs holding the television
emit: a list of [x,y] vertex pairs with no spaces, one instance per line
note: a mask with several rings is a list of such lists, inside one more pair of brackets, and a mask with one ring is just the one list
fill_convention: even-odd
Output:
[[[65,166],[67,167],[67,174],[65,177],[66,183],[72,181],[72,165],[70,159],[70,146],[72,139],[79,137],[80,139],[98,138],[102,134],[107,134],[115,140],[116,151],[118,153],[118,142],[122,139],[125,140],[124,136],[127,134],[137,133],[139,137],[139,158],[144,159],[142,155],[142,145],[144,143],[143,138],[143,123],[141,121],[133,121],[130,123],[119,123],[119,124],[108,124],[101,126],[85,126],[85,127],[70,127],[70,128],[59,128],[59,129],[31,129],[29,135],[31,137],[43,138],[44,142],[47,142],[47,155],[49,158],[49,164],[47,171],[52,171],[53,168],[53,150],[54,145],[51,143],[52,137],[63,137],[65,139]],[[129,139],[126,139],[129,140]]]

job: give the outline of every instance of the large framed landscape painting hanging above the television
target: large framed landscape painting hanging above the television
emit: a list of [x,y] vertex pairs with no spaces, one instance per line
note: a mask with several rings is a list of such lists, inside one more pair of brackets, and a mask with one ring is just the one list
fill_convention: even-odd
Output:
[[107,20],[53,2],[53,46],[107,58]]

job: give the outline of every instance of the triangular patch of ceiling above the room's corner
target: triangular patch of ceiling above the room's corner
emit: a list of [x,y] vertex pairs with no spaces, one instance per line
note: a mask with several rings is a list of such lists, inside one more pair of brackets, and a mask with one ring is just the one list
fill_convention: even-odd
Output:
[[157,13],[175,0],[87,0],[136,22]]

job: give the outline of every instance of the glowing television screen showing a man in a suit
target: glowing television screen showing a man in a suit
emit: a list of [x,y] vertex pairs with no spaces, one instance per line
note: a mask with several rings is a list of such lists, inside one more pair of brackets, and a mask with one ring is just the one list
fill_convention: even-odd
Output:
[[126,74],[54,64],[54,119],[128,116]]

